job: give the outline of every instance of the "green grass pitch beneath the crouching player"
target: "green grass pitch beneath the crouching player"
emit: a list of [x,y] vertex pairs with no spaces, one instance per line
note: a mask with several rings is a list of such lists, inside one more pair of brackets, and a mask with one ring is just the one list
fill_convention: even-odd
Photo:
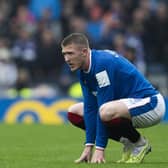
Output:
[[141,130],[153,151],[142,164],[116,164],[121,145],[109,141],[106,164],[74,164],[83,150],[84,132],[72,125],[0,124],[0,168],[167,168],[168,124]]

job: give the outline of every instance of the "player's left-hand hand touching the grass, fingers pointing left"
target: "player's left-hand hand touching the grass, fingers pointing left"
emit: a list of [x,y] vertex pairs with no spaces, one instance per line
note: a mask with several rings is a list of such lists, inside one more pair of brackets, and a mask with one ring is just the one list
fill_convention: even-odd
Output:
[[85,146],[79,159],[75,160],[75,163],[87,162],[89,163],[92,156],[93,146]]

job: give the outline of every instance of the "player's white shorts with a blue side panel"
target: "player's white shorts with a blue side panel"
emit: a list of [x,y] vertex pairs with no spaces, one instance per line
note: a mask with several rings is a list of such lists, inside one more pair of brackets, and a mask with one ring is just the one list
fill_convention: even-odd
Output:
[[135,128],[150,127],[164,117],[166,106],[161,94],[147,98],[127,98],[121,101],[128,107]]

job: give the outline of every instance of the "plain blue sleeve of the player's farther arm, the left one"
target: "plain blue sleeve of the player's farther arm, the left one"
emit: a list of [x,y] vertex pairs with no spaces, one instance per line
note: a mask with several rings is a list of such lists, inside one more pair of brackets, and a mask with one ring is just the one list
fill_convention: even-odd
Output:
[[85,84],[81,83],[84,96],[84,121],[86,128],[86,144],[95,144],[96,139],[96,120],[97,120],[97,99],[89,91]]

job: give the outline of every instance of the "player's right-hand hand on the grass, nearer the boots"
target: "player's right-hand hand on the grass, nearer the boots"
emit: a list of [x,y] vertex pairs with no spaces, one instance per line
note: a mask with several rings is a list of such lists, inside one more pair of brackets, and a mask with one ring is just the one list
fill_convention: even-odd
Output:
[[104,150],[95,149],[91,163],[105,163]]

